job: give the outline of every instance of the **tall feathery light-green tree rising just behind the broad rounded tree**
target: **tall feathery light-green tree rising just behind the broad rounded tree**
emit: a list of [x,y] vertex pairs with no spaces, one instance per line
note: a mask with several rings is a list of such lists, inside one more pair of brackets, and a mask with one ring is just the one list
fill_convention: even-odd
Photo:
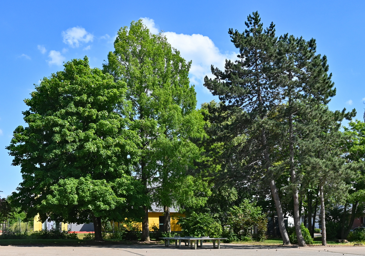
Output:
[[[142,221],[142,241],[149,241],[148,210],[155,190],[167,186],[171,172],[185,175],[180,167],[175,168],[177,162],[169,159],[169,150],[177,152],[179,140],[184,142],[178,134],[180,125],[193,118],[196,107],[196,93],[188,78],[191,63],[170,46],[162,33],[151,34],[142,20],[120,28],[114,47],[104,71],[127,84],[128,105],[120,112],[141,141],[141,157],[134,172],[144,187],[143,193],[150,197],[143,206]],[[169,205],[165,206],[167,215]]]

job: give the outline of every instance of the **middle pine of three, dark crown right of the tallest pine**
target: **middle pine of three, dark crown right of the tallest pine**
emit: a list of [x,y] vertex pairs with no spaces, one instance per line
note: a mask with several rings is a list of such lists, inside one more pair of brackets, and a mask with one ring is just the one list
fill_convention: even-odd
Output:
[[302,132],[302,120],[303,116],[305,119],[307,113],[314,109],[313,106],[327,104],[328,98],[335,95],[335,89],[332,89],[332,75],[327,74],[326,56],[321,58],[315,52],[314,39],[307,42],[303,38],[285,34],[278,40],[278,53],[273,65],[276,72],[273,73],[272,79],[277,83],[283,98],[276,118],[283,125],[282,130],[287,131],[281,143],[288,145],[285,147],[288,149],[288,160],[283,164],[290,170],[294,226],[299,246],[306,246],[300,229],[300,173],[297,173],[300,171],[300,163],[296,160],[298,154],[301,154],[298,150],[299,141],[306,136]]

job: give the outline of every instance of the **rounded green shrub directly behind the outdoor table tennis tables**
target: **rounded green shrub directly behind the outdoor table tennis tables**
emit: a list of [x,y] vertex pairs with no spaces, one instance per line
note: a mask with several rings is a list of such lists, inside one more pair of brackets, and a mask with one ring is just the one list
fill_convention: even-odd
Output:
[[192,212],[187,217],[178,218],[177,224],[181,226],[185,236],[220,237],[223,231],[222,226],[209,213]]

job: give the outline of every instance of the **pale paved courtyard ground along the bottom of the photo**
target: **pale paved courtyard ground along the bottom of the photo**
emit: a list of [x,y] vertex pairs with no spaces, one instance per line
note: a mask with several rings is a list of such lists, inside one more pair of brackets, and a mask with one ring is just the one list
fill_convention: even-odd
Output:
[[220,249],[213,249],[212,244],[204,244],[203,248],[191,250],[190,247],[176,249],[164,245],[108,245],[108,246],[0,246],[0,255],[27,256],[294,256],[294,255],[365,255],[365,247],[277,247],[256,245],[221,244]]

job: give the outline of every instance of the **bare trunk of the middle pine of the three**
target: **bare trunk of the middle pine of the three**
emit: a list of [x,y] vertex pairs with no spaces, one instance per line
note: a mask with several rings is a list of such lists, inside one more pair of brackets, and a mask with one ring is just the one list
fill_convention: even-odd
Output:
[[[291,105],[291,99],[289,98],[289,106]],[[300,229],[300,214],[299,214],[299,195],[298,195],[298,187],[296,181],[296,174],[294,168],[294,137],[293,137],[293,116],[289,115],[289,165],[290,165],[290,177],[292,182],[293,189],[293,201],[294,201],[294,227],[295,233],[298,240],[298,245],[301,247],[307,246],[304,241],[303,235]]]

